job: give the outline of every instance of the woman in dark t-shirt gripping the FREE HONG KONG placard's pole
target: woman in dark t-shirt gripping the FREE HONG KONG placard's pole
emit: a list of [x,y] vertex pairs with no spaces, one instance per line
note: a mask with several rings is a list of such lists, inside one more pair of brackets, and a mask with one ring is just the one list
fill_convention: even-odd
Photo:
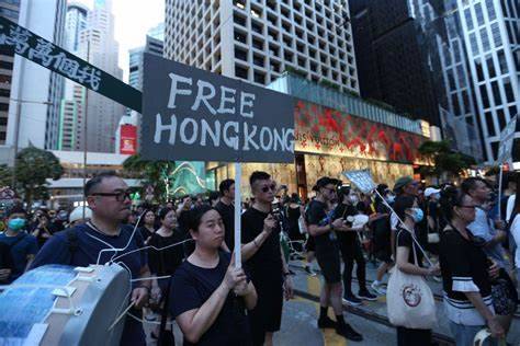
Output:
[[246,310],[257,304],[257,292],[229,253],[219,252],[221,215],[210,206],[195,208],[189,228],[195,250],[173,275],[169,304],[184,345],[251,345]]

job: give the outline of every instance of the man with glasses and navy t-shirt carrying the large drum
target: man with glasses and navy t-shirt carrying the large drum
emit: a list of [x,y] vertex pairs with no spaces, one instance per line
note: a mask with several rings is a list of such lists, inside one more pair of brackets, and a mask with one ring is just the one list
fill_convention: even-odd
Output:
[[[56,233],[36,255],[32,267],[45,264],[86,267],[98,263],[102,250],[114,249],[113,252],[102,252],[99,264],[105,264],[112,257],[118,256],[121,258],[117,262],[122,262],[131,272],[132,279],[149,277],[146,252],[131,253],[144,247],[139,232],[134,233],[132,227],[122,224],[131,214],[132,206],[126,183],[115,172],[104,172],[87,182],[84,195],[92,210],[90,221]],[[126,246],[131,237],[132,241]],[[121,252],[115,250],[124,247],[126,249]],[[131,254],[124,255],[125,253]],[[150,281],[133,281],[132,285],[131,301],[135,308],[131,311],[140,316],[140,309],[148,302]],[[146,345],[140,322],[126,318],[121,345]]]

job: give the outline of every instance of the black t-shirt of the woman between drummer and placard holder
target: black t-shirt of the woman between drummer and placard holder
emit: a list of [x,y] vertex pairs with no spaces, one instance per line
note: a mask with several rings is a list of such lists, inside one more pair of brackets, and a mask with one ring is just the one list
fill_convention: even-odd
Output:
[[[162,237],[157,233],[151,234],[148,245],[157,249],[166,247],[182,242],[183,235],[180,231],[174,230],[170,237]],[[184,258],[184,250],[182,244],[157,251],[148,250],[148,265],[152,274],[158,276],[172,275]]]

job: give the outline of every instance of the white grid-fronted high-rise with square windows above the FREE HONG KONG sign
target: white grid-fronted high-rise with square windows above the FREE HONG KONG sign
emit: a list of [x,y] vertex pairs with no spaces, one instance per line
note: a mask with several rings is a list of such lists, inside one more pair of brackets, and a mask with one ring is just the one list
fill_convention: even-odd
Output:
[[259,85],[292,70],[358,93],[348,18],[331,0],[167,0],[165,57]]

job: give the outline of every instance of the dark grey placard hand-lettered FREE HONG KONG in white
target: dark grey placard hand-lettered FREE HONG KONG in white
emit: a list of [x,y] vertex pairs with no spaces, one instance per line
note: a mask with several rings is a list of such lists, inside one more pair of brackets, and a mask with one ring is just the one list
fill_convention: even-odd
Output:
[[145,54],[147,160],[292,162],[293,99]]

